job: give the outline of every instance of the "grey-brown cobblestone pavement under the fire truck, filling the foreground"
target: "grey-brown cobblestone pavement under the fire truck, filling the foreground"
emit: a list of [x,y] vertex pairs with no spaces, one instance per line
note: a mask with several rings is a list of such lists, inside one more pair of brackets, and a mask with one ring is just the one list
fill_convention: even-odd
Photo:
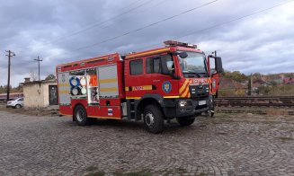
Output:
[[160,135],[141,122],[0,111],[0,175],[294,175],[294,117],[218,114]]

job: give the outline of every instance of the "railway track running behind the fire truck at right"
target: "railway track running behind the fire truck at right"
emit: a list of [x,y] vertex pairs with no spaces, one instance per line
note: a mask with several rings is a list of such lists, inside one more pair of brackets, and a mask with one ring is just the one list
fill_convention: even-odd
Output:
[[218,97],[218,107],[294,107],[294,96]]

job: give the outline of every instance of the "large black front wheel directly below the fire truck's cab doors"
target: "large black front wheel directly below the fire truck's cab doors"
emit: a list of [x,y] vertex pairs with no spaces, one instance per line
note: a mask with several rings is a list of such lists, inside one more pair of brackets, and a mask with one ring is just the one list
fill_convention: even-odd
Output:
[[144,125],[148,132],[157,134],[164,130],[165,120],[163,112],[153,104],[144,110]]

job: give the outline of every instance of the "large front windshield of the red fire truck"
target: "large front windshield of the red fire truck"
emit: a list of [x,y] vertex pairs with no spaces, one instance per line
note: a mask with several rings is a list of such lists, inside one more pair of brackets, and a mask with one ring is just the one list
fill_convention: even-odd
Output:
[[184,77],[208,76],[206,58],[203,53],[187,52],[188,57],[179,57],[179,63]]

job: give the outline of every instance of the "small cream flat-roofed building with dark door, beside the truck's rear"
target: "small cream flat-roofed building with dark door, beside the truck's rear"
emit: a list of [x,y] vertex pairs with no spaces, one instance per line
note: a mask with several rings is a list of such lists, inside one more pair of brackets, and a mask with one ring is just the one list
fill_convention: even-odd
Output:
[[56,80],[23,83],[23,106],[27,109],[46,108],[58,104],[58,85]]

